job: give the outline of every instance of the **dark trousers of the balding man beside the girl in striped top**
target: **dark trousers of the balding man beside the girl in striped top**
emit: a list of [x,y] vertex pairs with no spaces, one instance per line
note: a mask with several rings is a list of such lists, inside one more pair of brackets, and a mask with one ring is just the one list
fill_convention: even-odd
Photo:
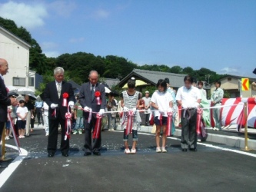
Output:
[[[96,139],[91,139],[91,131],[94,129],[97,119],[95,117],[91,117],[91,122],[88,123],[88,120],[84,118],[85,125],[85,153],[95,153],[101,151],[101,132],[99,133],[99,137]],[[92,140],[92,144],[91,144]]]

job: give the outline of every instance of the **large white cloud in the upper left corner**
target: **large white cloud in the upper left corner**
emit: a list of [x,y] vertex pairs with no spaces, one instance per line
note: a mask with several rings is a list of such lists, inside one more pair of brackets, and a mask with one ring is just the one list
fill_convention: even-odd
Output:
[[18,26],[27,29],[37,28],[45,24],[43,18],[48,13],[42,4],[25,4],[17,2],[6,2],[0,4],[2,18],[12,19]]

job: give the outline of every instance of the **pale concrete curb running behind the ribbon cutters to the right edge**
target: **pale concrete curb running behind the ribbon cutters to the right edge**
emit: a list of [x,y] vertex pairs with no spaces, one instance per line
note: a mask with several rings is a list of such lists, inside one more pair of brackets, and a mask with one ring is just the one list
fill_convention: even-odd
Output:
[[[121,131],[121,125],[118,125],[116,128],[118,131]],[[138,132],[142,133],[151,133],[152,126],[141,126],[138,130]],[[175,136],[180,137],[181,136],[181,130],[176,129]],[[209,142],[218,143],[218,144],[226,144],[231,147],[238,147],[238,148],[244,148],[244,138],[242,137],[235,137],[235,136],[228,136],[228,135],[221,135],[221,134],[211,134],[208,133],[207,140]],[[256,141],[249,140],[248,139],[248,147],[251,150],[256,151]]]

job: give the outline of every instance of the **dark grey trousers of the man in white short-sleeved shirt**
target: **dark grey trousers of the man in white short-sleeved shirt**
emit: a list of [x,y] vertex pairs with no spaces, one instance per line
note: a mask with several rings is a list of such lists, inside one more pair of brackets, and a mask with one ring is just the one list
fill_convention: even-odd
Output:
[[[190,114],[190,118],[188,119]],[[181,110],[181,148],[194,149],[198,144],[198,134],[196,133],[197,110],[188,109],[184,117],[184,109]]]

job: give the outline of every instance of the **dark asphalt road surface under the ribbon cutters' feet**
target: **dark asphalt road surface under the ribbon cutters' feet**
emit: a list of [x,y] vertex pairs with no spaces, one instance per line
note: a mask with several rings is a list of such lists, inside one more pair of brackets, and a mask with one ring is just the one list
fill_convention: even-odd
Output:
[[[197,152],[182,152],[180,141],[172,137],[168,139],[168,153],[157,154],[154,135],[139,134],[137,154],[127,155],[122,133],[104,131],[101,156],[83,156],[81,134],[71,135],[69,157],[58,151],[50,158],[43,130],[35,130],[20,142],[28,156],[0,191],[256,190],[256,157],[224,151],[239,151],[224,145],[199,144]],[[15,145],[13,140],[7,143]],[[17,155],[7,147],[7,157]]]

